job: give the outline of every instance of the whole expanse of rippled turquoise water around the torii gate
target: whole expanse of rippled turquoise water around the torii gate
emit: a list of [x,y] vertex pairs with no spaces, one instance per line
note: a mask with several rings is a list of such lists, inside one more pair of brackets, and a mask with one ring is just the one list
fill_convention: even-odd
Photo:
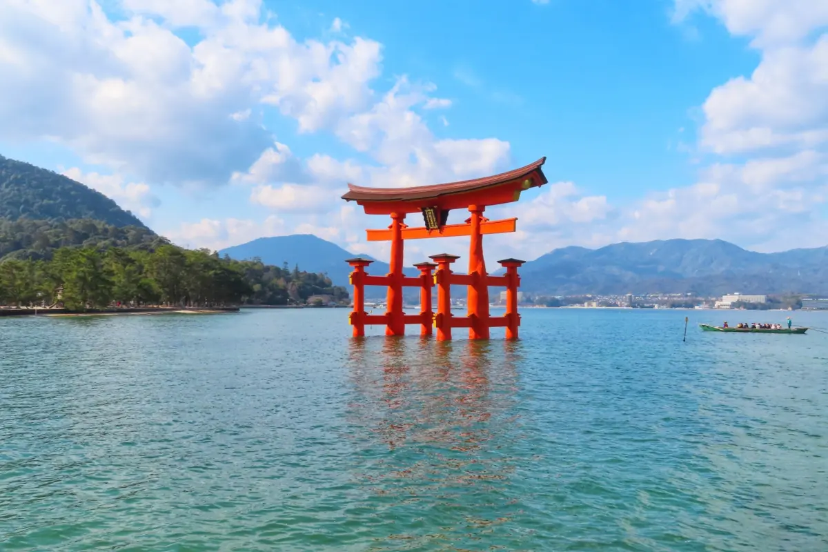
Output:
[[0,550],[828,550],[826,334],[347,315],[0,319]]

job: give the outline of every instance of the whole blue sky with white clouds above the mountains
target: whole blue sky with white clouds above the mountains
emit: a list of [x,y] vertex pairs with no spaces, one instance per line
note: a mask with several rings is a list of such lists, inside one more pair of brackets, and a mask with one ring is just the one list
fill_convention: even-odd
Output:
[[340,199],[348,182],[542,156],[548,185],[487,210],[518,218],[487,259],[819,247],[828,0],[0,0],[0,154],[185,247],[313,233],[386,259],[364,229],[388,220]]

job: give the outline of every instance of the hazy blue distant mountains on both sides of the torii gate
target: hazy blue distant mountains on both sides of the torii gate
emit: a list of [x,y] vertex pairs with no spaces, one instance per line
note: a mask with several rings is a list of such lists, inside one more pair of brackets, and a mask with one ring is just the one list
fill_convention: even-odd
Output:
[[[353,253],[311,235],[259,238],[220,253],[237,259],[298,264],[348,285]],[[368,257],[368,256],[363,256]],[[388,272],[375,262],[369,271]],[[415,275],[414,269],[407,269]],[[615,243],[599,249],[563,247],[521,269],[522,290],[538,295],[626,293],[828,293],[828,247],[778,253],[750,252],[722,240],[672,239]]]

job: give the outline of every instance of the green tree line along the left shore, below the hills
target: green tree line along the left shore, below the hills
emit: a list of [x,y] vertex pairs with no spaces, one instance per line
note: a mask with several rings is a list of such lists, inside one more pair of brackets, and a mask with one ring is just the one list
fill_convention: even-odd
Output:
[[48,260],[0,262],[0,305],[63,306],[70,310],[130,306],[303,304],[313,295],[348,299],[325,275],[170,244],[153,251],[60,247]]

